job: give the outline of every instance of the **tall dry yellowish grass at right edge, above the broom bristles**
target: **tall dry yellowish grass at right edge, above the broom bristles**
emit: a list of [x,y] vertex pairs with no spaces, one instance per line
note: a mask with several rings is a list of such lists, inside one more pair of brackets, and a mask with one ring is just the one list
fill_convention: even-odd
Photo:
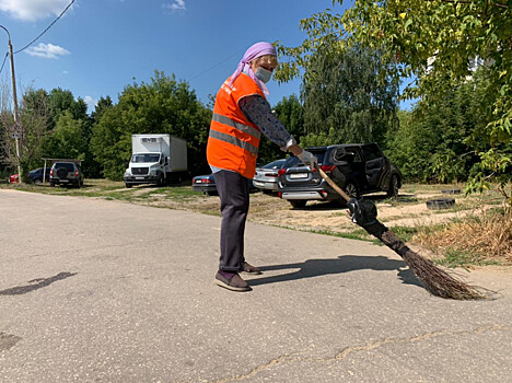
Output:
[[477,255],[473,260],[512,265],[512,212],[491,209],[463,222],[445,223],[440,230],[420,231],[414,241],[437,254],[456,251]]

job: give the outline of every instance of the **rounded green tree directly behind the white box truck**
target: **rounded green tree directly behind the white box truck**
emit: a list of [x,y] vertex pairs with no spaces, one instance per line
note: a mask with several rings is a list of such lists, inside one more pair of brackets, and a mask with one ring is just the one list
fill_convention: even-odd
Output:
[[206,142],[211,111],[185,81],[155,71],[149,83],[125,86],[116,105],[103,111],[93,127],[92,150],[103,174],[121,179],[131,152],[133,134],[170,134],[187,141],[188,169],[208,171]]

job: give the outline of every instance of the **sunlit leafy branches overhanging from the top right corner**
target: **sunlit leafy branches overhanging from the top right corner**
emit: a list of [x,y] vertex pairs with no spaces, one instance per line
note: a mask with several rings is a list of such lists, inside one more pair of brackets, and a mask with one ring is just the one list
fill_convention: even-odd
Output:
[[[333,1],[335,7],[341,2]],[[504,186],[512,178],[511,13],[510,1],[504,0],[356,0],[342,14],[327,10],[301,22],[309,38],[295,48],[281,47],[291,57],[281,78],[299,76],[311,54],[335,36],[344,46],[382,51],[383,60],[396,65],[383,67],[381,77],[414,78],[404,95],[431,101],[468,79],[469,60],[479,58],[488,66],[481,96],[490,111],[480,136],[468,143],[488,144],[475,146],[484,172],[469,189],[485,187],[481,181],[487,175],[498,176]]]

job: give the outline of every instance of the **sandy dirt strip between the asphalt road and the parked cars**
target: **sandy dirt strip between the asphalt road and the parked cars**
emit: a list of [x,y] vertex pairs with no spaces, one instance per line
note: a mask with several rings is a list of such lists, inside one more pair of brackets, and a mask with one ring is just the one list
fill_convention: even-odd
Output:
[[[147,190],[151,193],[150,190]],[[138,194],[139,196],[142,193]],[[441,193],[403,194],[397,201],[383,195],[370,195],[364,198],[376,204],[379,220],[388,228],[432,225],[478,214],[492,205],[475,204],[472,197],[457,197],[455,205],[446,210],[430,210],[427,200],[444,197]],[[151,198],[138,204],[167,207],[178,210],[197,211],[220,216],[220,200],[217,196],[172,200],[164,194],[153,194]],[[347,233],[358,230],[351,222],[348,209],[336,201],[309,201],[304,208],[294,209],[276,194],[255,193],[251,195],[248,221],[300,230]]]

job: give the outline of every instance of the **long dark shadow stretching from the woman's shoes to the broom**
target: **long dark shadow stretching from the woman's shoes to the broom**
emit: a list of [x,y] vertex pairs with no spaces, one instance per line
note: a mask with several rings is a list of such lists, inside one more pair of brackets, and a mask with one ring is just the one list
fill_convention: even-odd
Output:
[[290,280],[314,278],[326,275],[350,272],[354,270],[397,270],[398,277],[406,285],[415,285],[421,287],[421,283],[416,278],[415,274],[407,268],[407,264],[403,260],[389,259],[384,256],[359,256],[344,255],[336,259],[310,259],[303,263],[261,266],[261,271],[276,271],[296,269],[294,272],[246,279],[251,286],[260,286],[277,282],[287,282]]

